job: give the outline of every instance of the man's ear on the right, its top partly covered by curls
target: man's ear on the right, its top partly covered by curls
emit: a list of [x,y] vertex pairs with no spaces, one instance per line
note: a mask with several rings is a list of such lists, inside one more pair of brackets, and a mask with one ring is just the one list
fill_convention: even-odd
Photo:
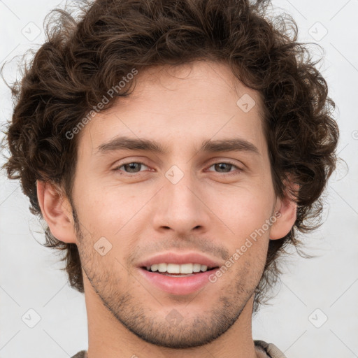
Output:
[[275,204],[276,220],[271,226],[270,239],[278,240],[285,237],[291,231],[297,218],[297,204],[289,192],[294,192],[295,197],[299,192],[299,185],[292,182],[292,177],[288,177],[285,182],[285,196],[282,199],[277,198]]

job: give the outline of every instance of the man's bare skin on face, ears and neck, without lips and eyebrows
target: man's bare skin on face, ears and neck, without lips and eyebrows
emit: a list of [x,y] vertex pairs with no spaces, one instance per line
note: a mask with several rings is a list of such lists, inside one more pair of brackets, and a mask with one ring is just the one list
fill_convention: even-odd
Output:
[[[248,113],[236,104],[243,94],[256,102]],[[52,234],[78,245],[89,358],[265,357],[252,341],[253,292],[268,242],[289,232],[296,205],[273,190],[261,105],[259,94],[226,64],[147,69],[136,76],[131,96],[81,131],[73,208],[60,188],[38,182]],[[98,152],[99,145],[124,135],[156,140],[169,152]],[[255,145],[258,154],[198,152],[206,139],[234,137]],[[228,160],[234,166],[213,165]],[[123,166],[138,162],[144,165]],[[176,184],[165,176],[173,165],[183,173]],[[204,252],[224,264],[275,212],[280,218],[199,292],[169,294],[138,272],[141,260],[164,250]],[[104,256],[94,250],[101,237],[112,245]],[[179,324],[166,320],[171,312],[180,314]]]

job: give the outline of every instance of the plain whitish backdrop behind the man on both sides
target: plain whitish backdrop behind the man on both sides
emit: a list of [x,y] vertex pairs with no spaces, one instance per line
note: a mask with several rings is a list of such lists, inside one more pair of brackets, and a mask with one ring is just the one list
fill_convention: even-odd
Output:
[[[8,81],[16,75],[10,60],[43,43],[43,19],[58,3],[0,1],[0,66],[8,62]],[[358,357],[358,1],[274,0],[273,6],[294,17],[299,41],[324,48],[322,54],[311,46],[324,55],[320,71],[337,105],[338,152],[349,170],[338,164],[327,190],[325,222],[305,236],[306,252],[317,257],[287,259],[275,299],[254,317],[253,338],[274,343],[288,358]],[[31,34],[41,29],[33,41],[22,34],[29,27]],[[3,126],[12,101],[2,80],[0,90]],[[0,173],[0,358],[71,357],[87,349],[84,296],[67,284],[55,252],[38,243],[44,242],[43,231],[28,207],[19,184]],[[34,328],[22,321],[25,313],[34,320],[29,309],[41,316]]]

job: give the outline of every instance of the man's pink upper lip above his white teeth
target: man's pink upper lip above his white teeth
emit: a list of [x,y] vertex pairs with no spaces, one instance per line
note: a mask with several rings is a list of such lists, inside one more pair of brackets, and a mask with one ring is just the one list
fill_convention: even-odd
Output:
[[215,262],[213,259],[210,259],[206,255],[203,255],[199,252],[162,252],[148,259],[144,259],[139,267],[152,266],[155,264],[201,264],[206,265],[208,268],[218,267],[220,264]]

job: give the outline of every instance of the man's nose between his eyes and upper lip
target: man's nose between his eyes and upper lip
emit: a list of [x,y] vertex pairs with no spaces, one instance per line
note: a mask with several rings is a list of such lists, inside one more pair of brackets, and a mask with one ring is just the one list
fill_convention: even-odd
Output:
[[205,192],[198,179],[185,173],[175,183],[165,178],[152,215],[157,230],[173,230],[176,235],[190,234],[192,230],[206,231],[210,209],[205,204]]

